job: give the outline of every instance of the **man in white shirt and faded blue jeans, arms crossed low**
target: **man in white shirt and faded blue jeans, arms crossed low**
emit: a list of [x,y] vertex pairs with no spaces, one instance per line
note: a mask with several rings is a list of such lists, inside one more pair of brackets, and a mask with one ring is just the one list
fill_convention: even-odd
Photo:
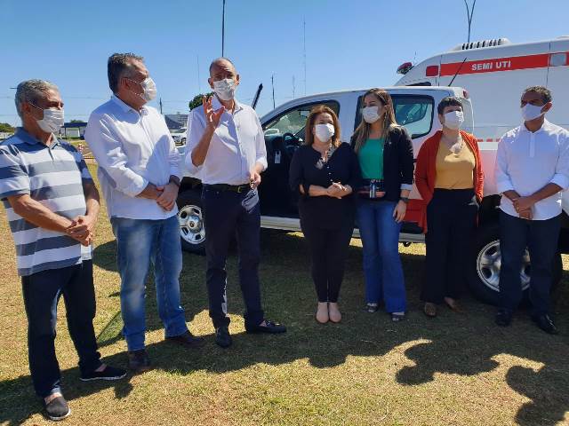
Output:
[[188,331],[180,306],[182,258],[176,217],[180,155],[164,117],[146,106],[156,97],[156,86],[143,59],[132,53],[108,59],[108,84],[114,94],[92,112],[84,136],[99,163],[100,185],[116,236],[129,367],[142,372],[150,367],[144,344],[150,264],[166,339],[187,347],[204,341]]

